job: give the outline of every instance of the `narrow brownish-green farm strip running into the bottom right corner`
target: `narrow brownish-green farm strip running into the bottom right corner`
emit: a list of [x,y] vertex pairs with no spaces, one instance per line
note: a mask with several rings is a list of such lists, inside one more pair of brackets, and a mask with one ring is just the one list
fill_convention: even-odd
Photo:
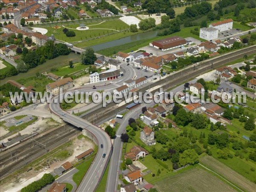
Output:
[[245,191],[254,191],[256,189],[255,183],[250,182],[239,173],[235,172],[228,166],[224,165],[209,155],[201,157],[200,162],[206,165],[209,169],[212,169],[212,171],[224,176],[227,178],[227,180],[232,182],[234,185],[239,186],[239,188],[242,188]]

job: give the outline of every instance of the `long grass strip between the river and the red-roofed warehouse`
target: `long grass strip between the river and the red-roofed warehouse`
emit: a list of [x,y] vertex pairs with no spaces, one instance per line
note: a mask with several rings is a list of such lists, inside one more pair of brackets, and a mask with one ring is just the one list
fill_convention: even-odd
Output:
[[100,53],[102,55],[113,55],[113,54],[116,54],[119,51],[131,52],[131,50],[135,51],[135,50],[138,50],[141,47],[148,46],[149,43],[152,42],[152,41],[156,41],[156,40],[160,40],[160,39],[164,39],[164,38],[168,38],[168,37],[172,37],[172,36],[176,36],[176,35],[178,35],[180,37],[183,37],[183,38],[193,37],[193,38],[199,39],[201,41],[205,41],[205,40],[199,38],[198,35],[194,35],[194,34],[190,33],[190,30],[194,29],[194,28],[195,28],[195,26],[182,28],[180,30],[180,32],[175,32],[171,35],[156,36],[154,38],[134,41],[134,42],[131,42],[131,43],[128,43],[128,44],[123,44],[123,45],[111,47],[111,48],[108,48],[108,49],[99,50],[98,53]]

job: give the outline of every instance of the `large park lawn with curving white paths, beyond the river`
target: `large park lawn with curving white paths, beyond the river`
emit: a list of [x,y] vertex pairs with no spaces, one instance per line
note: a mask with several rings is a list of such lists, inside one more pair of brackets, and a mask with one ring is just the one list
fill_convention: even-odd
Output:
[[[66,41],[66,42],[75,42],[75,41],[84,41],[86,39],[89,38],[95,38],[101,35],[106,35],[109,33],[113,33],[116,32],[115,30],[123,30],[123,29],[128,29],[129,26],[122,22],[119,19],[116,20],[106,20],[105,22],[101,23],[102,21],[95,21],[92,23],[86,23],[85,21],[83,22],[86,26],[89,25],[94,25],[94,26],[89,26],[89,30],[84,30],[84,31],[79,31],[76,30],[76,28],[79,26],[79,24],[70,24],[70,23],[63,23],[62,25],[67,27],[67,28],[71,28],[69,30],[74,29],[73,31],[76,33],[75,37],[67,37],[62,30],[64,29],[64,27],[62,25],[61,28],[59,29],[55,29],[53,27],[44,27],[45,29],[48,30],[47,34],[48,36],[54,34],[55,38],[61,41]],[[101,23],[101,24],[99,24]],[[95,24],[99,24],[99,25],[95,25]],[[101,29],[99,29],[101,28]],[[92,30],[90,30],[92,29]],[[95,29],[95,30],[93,30]],[[112,30],[114,29],[114,30]]]

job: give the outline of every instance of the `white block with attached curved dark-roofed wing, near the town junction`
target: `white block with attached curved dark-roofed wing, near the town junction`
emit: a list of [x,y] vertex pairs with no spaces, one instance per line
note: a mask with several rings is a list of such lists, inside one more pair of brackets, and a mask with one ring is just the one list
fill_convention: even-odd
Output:
[[98,83],[102,81],[109,81],[118,79],[121,76],[120,70],[110,69],[102,73],[93,73],[89,75],[90,83]]

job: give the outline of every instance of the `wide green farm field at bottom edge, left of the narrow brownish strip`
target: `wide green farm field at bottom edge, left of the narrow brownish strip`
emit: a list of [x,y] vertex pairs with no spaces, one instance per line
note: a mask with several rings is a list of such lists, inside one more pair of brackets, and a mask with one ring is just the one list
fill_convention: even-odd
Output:
[[169,191],[236,191],[204,169],[195,167],[177,175],[169,175],[154,184],[159,192]]

